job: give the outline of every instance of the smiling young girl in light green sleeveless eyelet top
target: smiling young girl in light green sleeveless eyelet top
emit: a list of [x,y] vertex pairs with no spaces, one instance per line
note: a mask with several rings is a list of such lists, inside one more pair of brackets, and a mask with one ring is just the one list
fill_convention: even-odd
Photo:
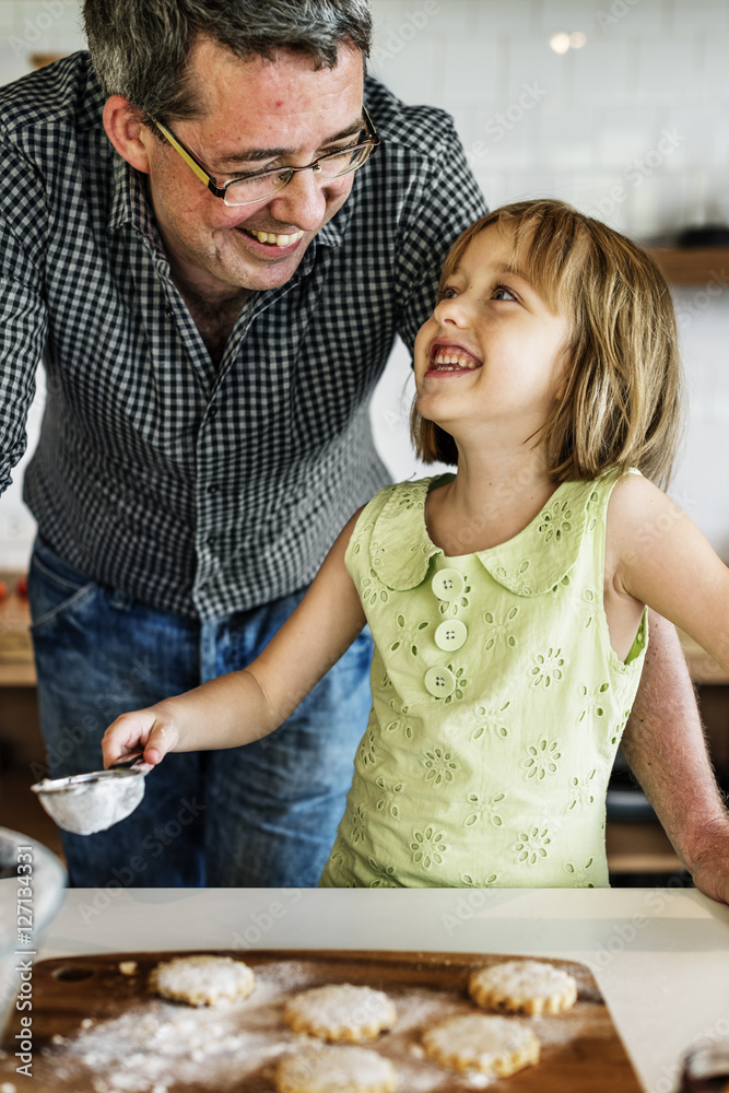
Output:
[[456,474],[380,491],[248,669],[118,718],[105,762],[271,732],[368,622],[373,706],[321,883],[604,885],[646,604],[729,668],[729,571],[650,481],[679,433],[669,290],[574,209],[508,205],[456,243],[414,369],[419,454]]

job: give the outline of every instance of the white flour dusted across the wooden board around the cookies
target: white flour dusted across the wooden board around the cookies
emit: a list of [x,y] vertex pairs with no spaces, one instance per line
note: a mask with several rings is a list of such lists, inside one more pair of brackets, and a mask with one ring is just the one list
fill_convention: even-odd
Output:
[[[107,1009],[115,1015],[79,1018],[73,1029],[64,1030],[56,1043],[42,1048],[34,1071],[34,1077],[40,1079],[39,1088],[52,1089],[54,1093],[240,1093],[243,1089],[246,1093],[272,1093],[277,1061],[304,1046],[321,1044],[286,1027],[285,1002],[296,992],[322,983],[348,982],[346,964],[342,963],[334,975],[331,966],[322,974],[314,954],[311,960],[298,959],[298,953],[296,960],[285,959],[285,954],[261,954],[259,961],[252,956],[245,954],[256,975],[254,992],[245,1000],[202,1008],[148,994],[151,962],[140,966],[140,974],[132,977],[114,964],[109,975],[116,975],[119,987],[129,991],[126,1000],[119,1001],[116,1013]],[[137,959],[140,965],[145,963]],[[484,962],[491,961],[493,957],[484,957]],[[368,973],[369,965],[367,977]],[[362,965],[354,982],[363,982]],[[458,983],[450,980],[449,986],[431,986],[428,980],[424,980],[425,985],[407,985],[392,978],[386,982],[378,977],[377,961],[373,962],[369,984],[385,990],[395,1003],[397,1023],[391,1032],[363,1046],[390,1060],[402,1093],[473,1093],[482,1089],[495,1093],[514,1081],[481,1073],[456,1074],[423,1053],[421,1037],[426,1029],[447,1018],[474,1012],[466,982],[467,975]],[[598,1011],[604,1020],[601,999],[595,998],[595,990],[587,984],[584,986],[587,989],[580,990],[581,1000],[568,1013],[526,1019],[542,1044],[543,1061],[571,1051],[576,1037],[596,1034]],[[111,996],[117,994],[113,979],[108,980],[108,989]],[[532,1071],[536,1080],[541,1065]],[[0,1063],[0,1078],[1,1071]],[[539,1089],[538,1080],[533,1088]]]

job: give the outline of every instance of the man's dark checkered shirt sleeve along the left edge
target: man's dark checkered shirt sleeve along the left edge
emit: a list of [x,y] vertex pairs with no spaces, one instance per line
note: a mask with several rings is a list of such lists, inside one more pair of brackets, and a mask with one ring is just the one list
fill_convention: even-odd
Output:
[[[44,201],[40,198],[36,205],[33,227],[28,223],[27,202],[16,201],[19,215],[12,215],[11,224],[13,190],[8,189],[8,160],[2,174],[5,200],[0,207],[0,493],[10,485],[11,471],[25,451],[25,423],[48,333],[43,272],[21,243],[21,237],[26,236],[28,239],[36,236],[37,243]],[[26,198],[32,188],[35,188],[33,180],[28,186],[26,178]]]

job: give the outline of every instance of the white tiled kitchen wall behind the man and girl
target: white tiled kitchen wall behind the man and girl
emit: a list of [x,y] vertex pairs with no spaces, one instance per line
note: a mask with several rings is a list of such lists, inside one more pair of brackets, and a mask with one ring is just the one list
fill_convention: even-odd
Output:
[[[643,239],[729,222],[729,0],[372,0],[372,70],[407,102],[454,115],[492,207],[550,195]],[[80,23],[78,0],[0,0],[0,82],[30,71],[34,52],[82,48]],[[729,559],[729,270],[675,299],[690,415],[671,493]],[[420,472],[411,397],[398,345],[372,409],[398,478]],[[21,478],[22,468],[0,502],[0,567],[24,565],[30,549]]]

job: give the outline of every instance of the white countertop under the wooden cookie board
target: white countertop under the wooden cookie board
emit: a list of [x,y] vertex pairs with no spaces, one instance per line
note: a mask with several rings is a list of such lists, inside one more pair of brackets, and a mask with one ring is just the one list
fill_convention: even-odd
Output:
[[648,1093],[729,1037],[729,907],[684,889],[69,891],[38,959],[173,949],[396,949],[581,961]]

